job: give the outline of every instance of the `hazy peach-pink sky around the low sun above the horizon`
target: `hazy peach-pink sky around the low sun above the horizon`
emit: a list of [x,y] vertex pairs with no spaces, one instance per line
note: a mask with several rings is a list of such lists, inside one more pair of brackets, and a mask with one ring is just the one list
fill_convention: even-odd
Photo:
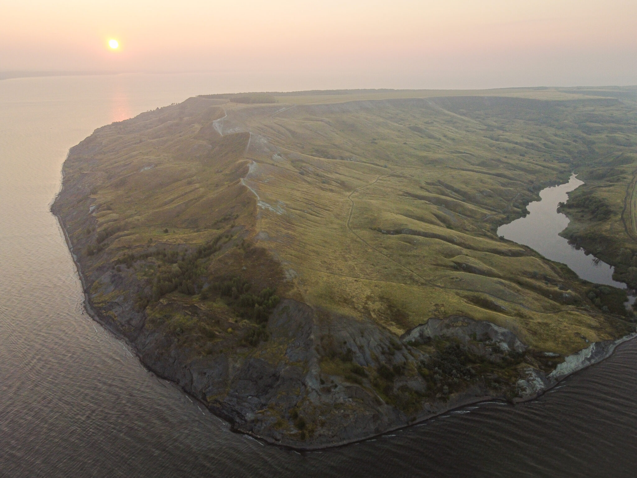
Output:
[[0,70],[634,85],[636,32],[637,0],[0,0]]

